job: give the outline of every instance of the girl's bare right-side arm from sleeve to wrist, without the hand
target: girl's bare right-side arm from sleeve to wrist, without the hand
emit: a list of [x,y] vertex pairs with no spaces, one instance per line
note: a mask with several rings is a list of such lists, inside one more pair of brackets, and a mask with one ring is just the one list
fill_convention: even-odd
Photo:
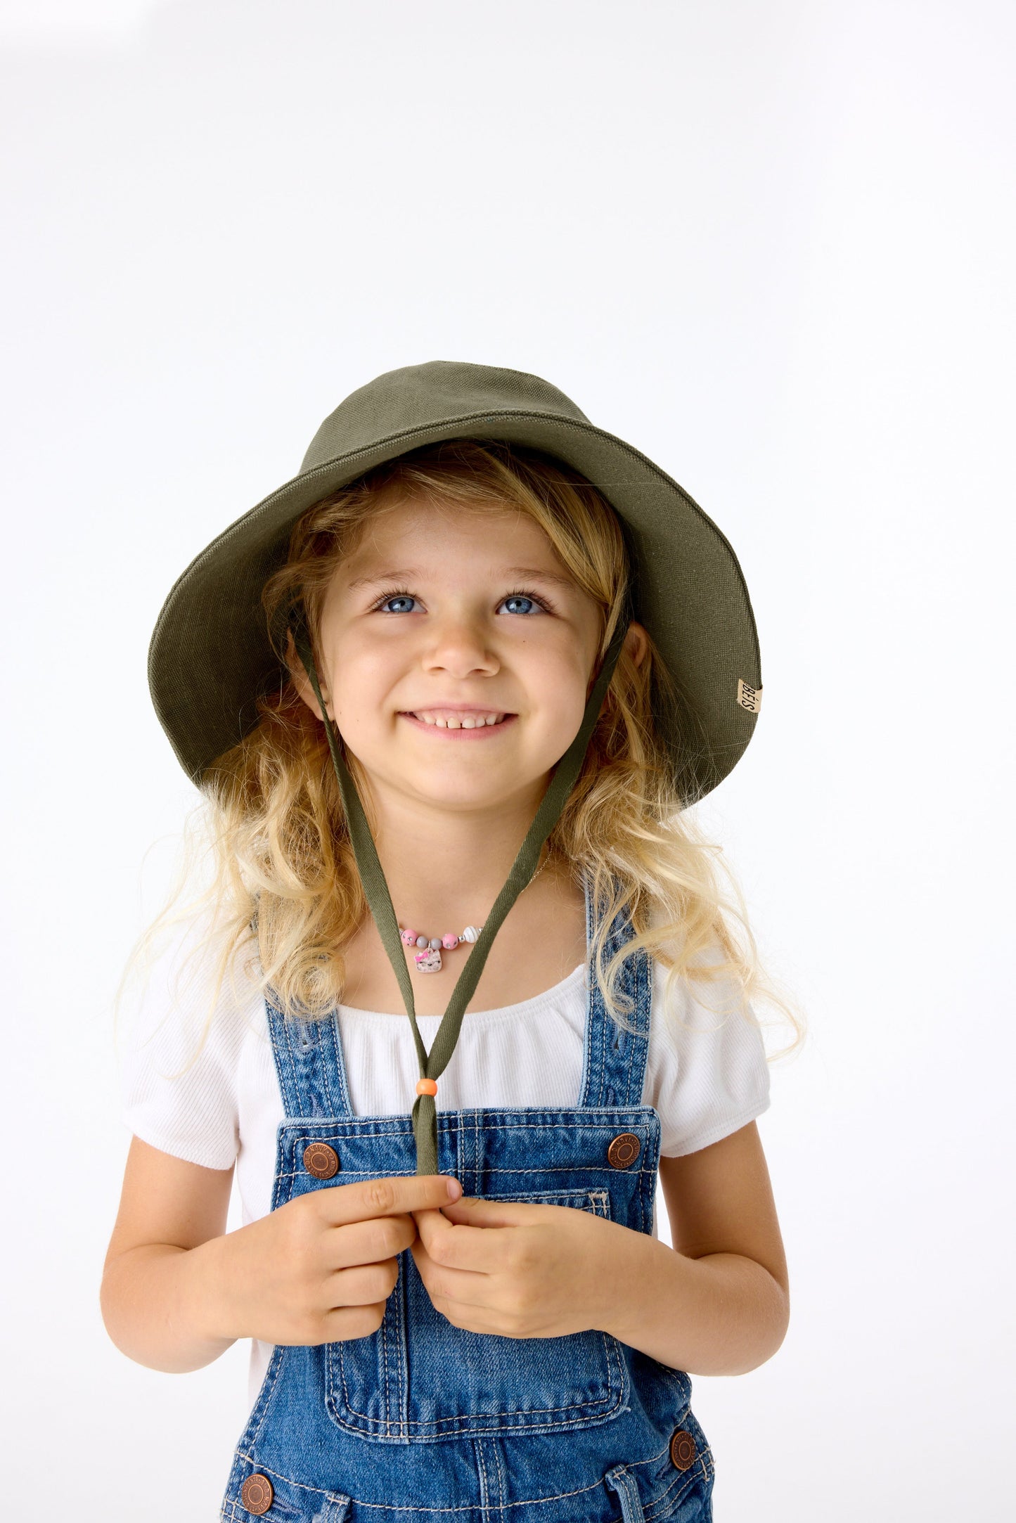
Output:
[[780,1348],[791,1316],[783,1240],[754,1121],[684,1157],[661,1157],[673,1247],[629,1232],[599,1325],[663,1365],[743,1375]]

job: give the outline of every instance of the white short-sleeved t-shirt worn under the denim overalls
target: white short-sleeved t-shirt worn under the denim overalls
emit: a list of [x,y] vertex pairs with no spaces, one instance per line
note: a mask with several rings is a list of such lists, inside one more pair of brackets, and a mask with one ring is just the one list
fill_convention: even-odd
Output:
[[[140,1002],[128,1007],[123,1119],[143,1142],[174,1157],[206,1168],[236,1164],[247,1224],[267,1215],[271,1205],[276,1132],[285,1119],[282,1095],[265,1002],[244,973],[247,959],[256,956],[253,946],[233,959],[236,993],[227,972],[204,1043],[190,1062],[209,1017],[219,955],[213,946],[187,961],[206,931],[201,917],[178,929],[152,964]],[[657,963],[643,1104],[660,1113],[663,1156],[679,1157],[762,1115],[769,1106],[769,1071],[762,1033],[740,1014],[730,988],[681,981],[664,1010],[664,978],[666,969]],[[579,966],[533,999],[469,1011],[440,1078],[439,1109],[574,1107],[586,1001],[585,967]],[[430,1051],[442,1016],[416,1019]],[[338,1023],[353,1115],[408,1113],[419,1065],[405,1010],[340,1005]],[[251,1404],[270,1354],[270,1345],[253,1340]]]

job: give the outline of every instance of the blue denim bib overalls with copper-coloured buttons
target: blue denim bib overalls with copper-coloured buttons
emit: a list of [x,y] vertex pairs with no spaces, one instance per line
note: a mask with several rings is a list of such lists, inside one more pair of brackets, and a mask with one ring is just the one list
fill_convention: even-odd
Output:
[[[586,946],[593,931],[586,885]],[[605,959],[631,935],[618,915]],[[620,979],[638,1036],[611,1020],[588,982],[574,1107],[439,1110],[439,1173],[454,1174],[465,1196],[573,1206],[652,1232],[660,1116],[641,1104],[652,963],[634,953]],[[286,1115],[273,1211],[309,1189],[413,1174],[410,1116],[352,1113],[337,1019],[286,1022],[267,1008]],[[317,1177],[335,1159],[334,1176]],[[614,1295],[621,1301],[628,1287]],[[713,1458],[690,1390],[684,1372],[606,1333],[510,1339],[455,1328],[405,1249],[376,1333],[274,1348],[221,1518],[708,1523]]]

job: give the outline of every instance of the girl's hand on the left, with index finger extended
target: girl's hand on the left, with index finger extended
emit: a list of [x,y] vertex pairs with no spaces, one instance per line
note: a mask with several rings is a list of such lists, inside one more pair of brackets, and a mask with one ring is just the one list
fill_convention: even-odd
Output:
[[215,1333],[289,1345],[376,1333],[416,1238],[410,1212],[446,1206],[448,1185],[446,1174],[329,1185],[227,1232],[215,1243]]

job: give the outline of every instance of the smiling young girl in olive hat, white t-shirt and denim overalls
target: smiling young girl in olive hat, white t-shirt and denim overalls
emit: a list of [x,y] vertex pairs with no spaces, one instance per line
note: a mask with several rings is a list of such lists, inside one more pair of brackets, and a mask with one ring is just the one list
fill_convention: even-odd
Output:
[[762,694],[727,539],[545,381],[413,366],[192,562],[149,676],[216,873],[102,1311],[155,1369],[253,1339],[221,1517],[710,1518],[687,1372],[788,1325],[763,981],[684,813]]

